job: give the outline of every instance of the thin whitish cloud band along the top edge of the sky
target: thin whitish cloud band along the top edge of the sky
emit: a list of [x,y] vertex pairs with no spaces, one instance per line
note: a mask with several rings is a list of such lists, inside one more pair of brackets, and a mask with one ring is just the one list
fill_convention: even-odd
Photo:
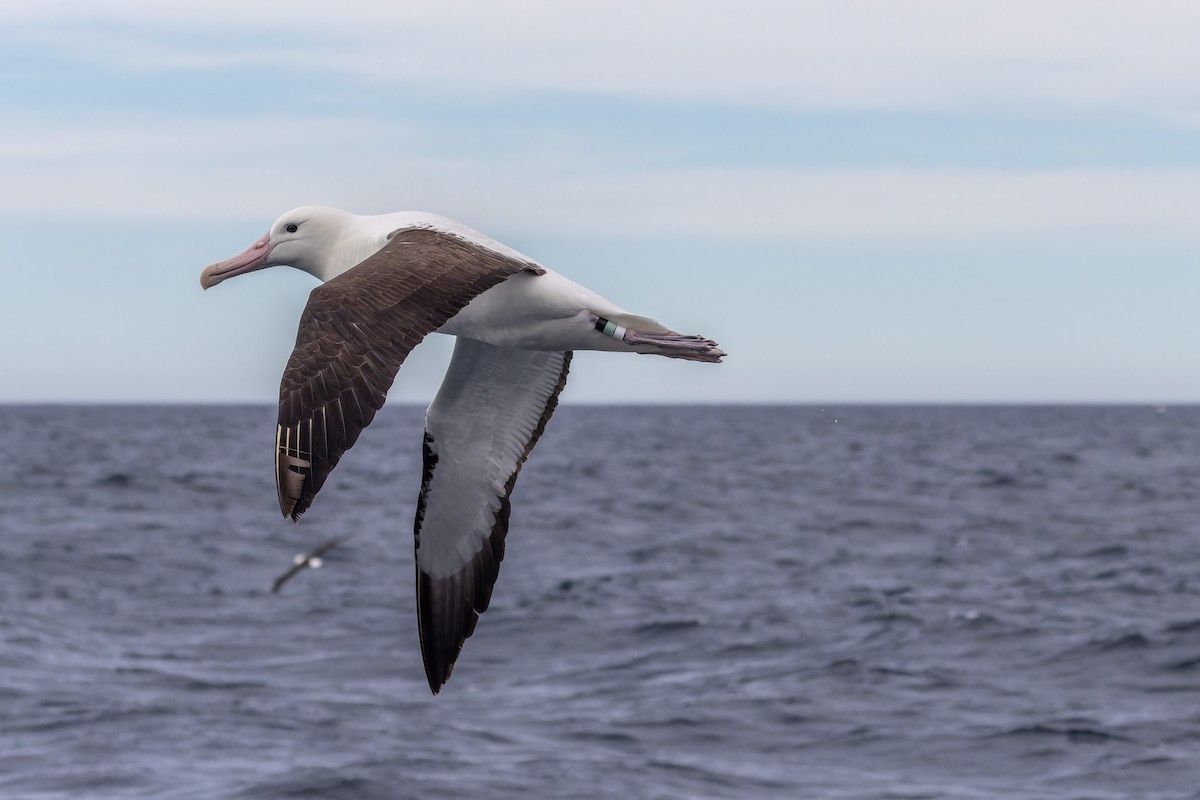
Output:
[[337,70],[466,91],[788,107],[1200,109],[1200,6],[1182,1],[520,0],[347,2],[331,12],[323,2],[50,0],[7,4],[0,22],[10,38],[48,37],[61,58],[130,70],[260,61],[300,76]]

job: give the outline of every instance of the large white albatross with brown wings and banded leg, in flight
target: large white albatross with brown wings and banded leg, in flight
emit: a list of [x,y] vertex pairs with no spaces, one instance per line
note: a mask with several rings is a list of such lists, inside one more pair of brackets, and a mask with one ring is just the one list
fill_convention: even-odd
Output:
[[200,285],[276,265],[322,282],[280,383],[275,483],[293,521],[383,407],[409,351],[432,332],[457,337],[425,414],[414,525],[418,630],[437,694],[487,608],[509,495],[566,384],[571,351],[710,362],[725,353],[432,213],[295,209],[246,252],[206,267]]

